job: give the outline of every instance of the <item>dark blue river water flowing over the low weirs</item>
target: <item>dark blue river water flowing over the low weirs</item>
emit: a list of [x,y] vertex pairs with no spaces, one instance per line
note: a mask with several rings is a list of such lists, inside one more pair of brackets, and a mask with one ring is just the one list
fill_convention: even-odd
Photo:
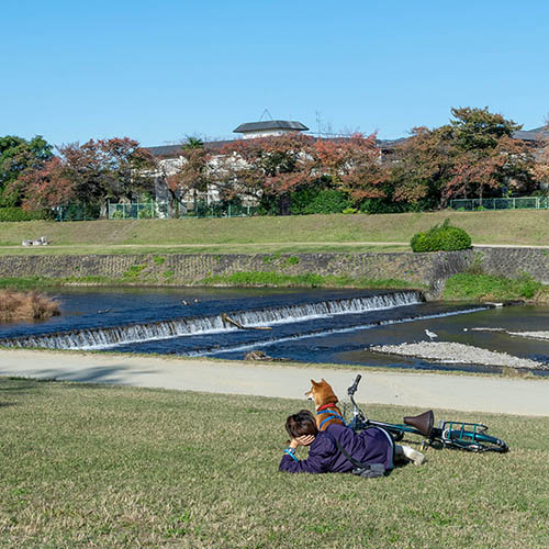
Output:
[[[368,350],[372,345],[459,341],[549,363],[549,341],[472,327],[549,330],[548,307],[425,303],[416,291],[78,289],[56,295],[63,315],[0,324],[0,345],[243,359],[249,350],[306,362],[497,371]],[[248,329],[239,329],[234,323]],[[256,328],[256,329],[254,329]],[[257,329],[267,328],[267,329]]]

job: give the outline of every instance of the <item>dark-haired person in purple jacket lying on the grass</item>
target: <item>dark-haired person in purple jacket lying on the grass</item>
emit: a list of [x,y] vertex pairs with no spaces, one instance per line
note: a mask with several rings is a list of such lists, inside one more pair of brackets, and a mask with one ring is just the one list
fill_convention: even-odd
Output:
[[[285,448],[279,471],[290,473],[346,473],[360,474],[357,463],[372,466],[381,474],[390,472],[393,460],[410,460],[415,464],[425,461],[425,457],[407,446],[395,445],[391,435],[379,428],[370,427],[355,433],[345,425],[332,424],[325,430],[318,430],[314,415],[309,410],[292,414],[285,422],[290,435],[290,446]],[[307,459],[295,456],[298,446],[309,446]],[[369,474],[362,474],[363,477]]]

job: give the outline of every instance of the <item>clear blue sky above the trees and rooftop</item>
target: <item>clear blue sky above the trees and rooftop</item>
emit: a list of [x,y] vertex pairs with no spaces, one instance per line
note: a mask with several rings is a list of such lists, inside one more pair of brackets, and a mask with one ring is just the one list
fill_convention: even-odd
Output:
[[0,11],[0,135],[145,146],[298,120],[382,138],[549,112],[549,1],[25,0]]

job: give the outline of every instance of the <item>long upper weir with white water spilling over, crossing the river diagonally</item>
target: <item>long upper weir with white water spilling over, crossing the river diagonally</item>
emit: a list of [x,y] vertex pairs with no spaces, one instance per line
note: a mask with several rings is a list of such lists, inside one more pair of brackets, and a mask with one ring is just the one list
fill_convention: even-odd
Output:
[[[384,292],[362,298],[326,300],[299,305],[284,305],[249,311],[228,312],[234,321],[246,326],[269,326],[283,323],[305,322],[341,314],[361,314],[424,301],[415,290]],[[186,316],[155,323],[128,324],[105,328],[83,328],[54,334],[32,335],[0,339],[0,346],[47,349],[101,349],[143,343],[153,339],[234,332],[238,328],[223,321],[222,314]]]

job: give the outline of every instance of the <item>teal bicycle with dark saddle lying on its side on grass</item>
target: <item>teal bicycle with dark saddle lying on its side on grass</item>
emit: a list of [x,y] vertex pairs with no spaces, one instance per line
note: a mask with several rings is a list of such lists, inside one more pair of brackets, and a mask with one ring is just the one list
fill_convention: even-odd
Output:
[[[438,427],[434,426],[435,414],[433,410],[416,416],[404,417],[403,424],[377,422],[365,416],[355,402],[355,393],[362,376],[358,374],[352,385],[347,389],[347,394],[352,405],[352,419],[348,426],[355,430],[365,430],[368,427],[382,427],[388,430],[395,441],[402,440],[405,434],[424,437],[423,447],[442,447],[475,452],[508,451],[508,446],[500,438],[486,435],[488,426],[479,423],[440,421]],[[345,412],[344,412],[344,415]]]

